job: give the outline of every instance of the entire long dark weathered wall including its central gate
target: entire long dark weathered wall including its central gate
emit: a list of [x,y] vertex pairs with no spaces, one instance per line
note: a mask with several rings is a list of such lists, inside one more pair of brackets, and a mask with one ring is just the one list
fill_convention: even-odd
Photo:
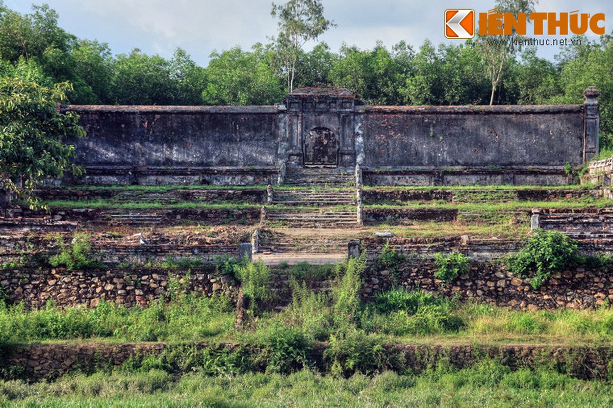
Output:
[[[250,107],[69,105],[85,184],[276,184],[287,168],[370,185],[566,184],[598,153],[598,90],[582,105],[372,106],[300,88]],[[566,170],[566,171],[565,171]]]

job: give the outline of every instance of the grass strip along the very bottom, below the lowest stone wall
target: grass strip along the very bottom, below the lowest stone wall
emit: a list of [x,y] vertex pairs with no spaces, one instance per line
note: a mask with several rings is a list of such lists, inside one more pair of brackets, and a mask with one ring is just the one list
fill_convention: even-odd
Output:
[[55,382],[0,382],[0,405],[13,407],[607,407],[613,389],[537,369],[510,371],[495,361],[419,374],[289,376],[249,373],[175,377],[159,369],[96,373]]

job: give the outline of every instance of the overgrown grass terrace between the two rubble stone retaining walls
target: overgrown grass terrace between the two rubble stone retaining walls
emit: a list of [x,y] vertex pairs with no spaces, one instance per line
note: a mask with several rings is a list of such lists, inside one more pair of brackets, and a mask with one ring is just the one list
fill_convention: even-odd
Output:
[[[227,298],[181,294],[178,284],[170,282],[165,300],[153,301],[145,309],[105,302],[94,309],[59,309],[48,304],[28,311],[21,304],[2,306],[0,343],[105,339],[258,344],[275,327],[292,328],[308,341],[330,341],[348,327],[390,343],[537,342],[593,346],[613,341],[613,309],[607,307],[522,312],[484,304],[457,304],[448,298],[403,289],[390,290],[365,304],[356,297],[357,278],[346,278],[338,268],[310,273],[294,268],[291,303],[280,312],[259,309],[247,331],[234,329],[234,307]],[[332,280],[329,290],[316,293],[301,283],[303,278],[319,274]]]

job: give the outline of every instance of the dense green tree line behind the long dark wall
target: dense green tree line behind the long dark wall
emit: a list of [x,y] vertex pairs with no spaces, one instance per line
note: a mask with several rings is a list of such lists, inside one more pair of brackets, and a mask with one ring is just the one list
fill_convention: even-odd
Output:
[[[535,0],[500,0],[500,10],[530,10]],[[64,88],[73,104],[268,105],[295,86],[344,86],[367,104],[580,104],[582,92],[601,90],[601,140],[613,147],[613,45],[575,37],[556,61],[522,50],[487,50],[481,39],[452,43],[344,44],[331,50],[316,39],[333,21],[321,1],[274,4],[278,33],[251,48],[214,51],[200,67],[187,51],[172,58],[138,49],[113,55],[97,40],[78,39],[58,26],[48,6],[20,14],[0,0],[0,77]],[[502,63],[501,63],[502,61]],[[492,97],[493,96],[493,97]]]

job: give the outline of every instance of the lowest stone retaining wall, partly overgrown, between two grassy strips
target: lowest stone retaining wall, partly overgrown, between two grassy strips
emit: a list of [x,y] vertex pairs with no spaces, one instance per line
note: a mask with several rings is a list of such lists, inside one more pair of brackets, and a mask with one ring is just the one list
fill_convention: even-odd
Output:
[[[53,380],[70,372],[96,372],[113,371],[131,361],[131,365],[138,364],[143,358],[160,355],[164,352],[169,355],[173,350],[186,349],[215,349],[232,352],[240,344],[209,345],[205,343],[192,344],[186,347],[181,344],[165,343],[139,343],[139,344],[31,344],[27,346],[5,347],[1,350],[0,361],[4,379],[20,377],[28,380]],[[324,354],[326,347],[318,347],[310,352],[309,358],[316,368],[326,372],[329,361]],[[251,347],[249,352],[254,357],[259,350]],[[175,355],[183,355],[176,353]],[[206,354],[204,354],[206,355]],[[211,353],[215,356],[215,353]],[[501,361],[503,365],[517,369],[522,367],[547,367],[558,369],[581,379],[606,379],[611,375],[609,361],[613,356],[610,346],[535,346],[535,345],[480,345],[480,344],[454,344],[451,346],[437,346],[425,344],[389,344],[381,351],[383,361],[389,361],[386,369],[398,373],[419,372],[436,365],[438,361],[445,361],[457,368],[470,367],[474,362],[489,357]],[[215,357],[211,357],[215,358]],[[172,361],[179,363],[175,357]],[[186,371],[197,369],[198,361],[192,361],[196,367],[187,365]],[[202,360],[200,363],[206,363]],[[177,364],[178,365],[178,364]],[[254,367],[264,371],[266,361],[261,366]],[[180,371],[180,369],[179,369]],[[182,374],[176,372],[175,374]]]

